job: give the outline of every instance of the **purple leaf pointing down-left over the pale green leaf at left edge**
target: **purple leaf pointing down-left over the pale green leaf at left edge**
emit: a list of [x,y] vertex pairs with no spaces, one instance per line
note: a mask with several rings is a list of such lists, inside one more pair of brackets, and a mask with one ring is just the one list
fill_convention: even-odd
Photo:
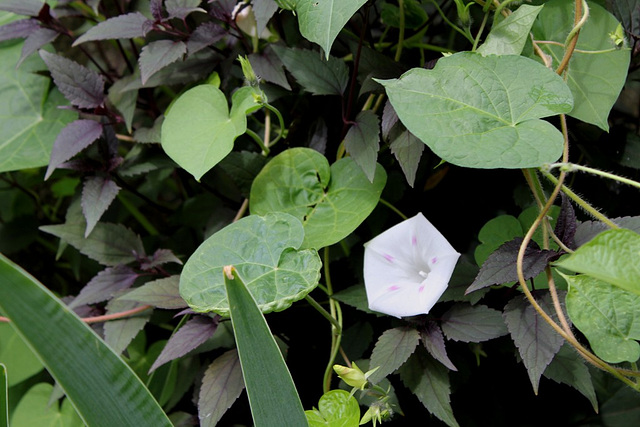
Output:
[[100,135],[102,124],[94,120],[76,120],[65,126],[53,143],[44,179],[48,179],[57,167],[87,148]]

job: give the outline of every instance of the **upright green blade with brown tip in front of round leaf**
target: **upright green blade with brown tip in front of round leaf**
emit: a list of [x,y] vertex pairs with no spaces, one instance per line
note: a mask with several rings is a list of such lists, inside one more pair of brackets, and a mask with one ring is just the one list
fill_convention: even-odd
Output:
[[223,274],[255,426],[306,426],[295,384],[258,304],[235,268],[225,267]]

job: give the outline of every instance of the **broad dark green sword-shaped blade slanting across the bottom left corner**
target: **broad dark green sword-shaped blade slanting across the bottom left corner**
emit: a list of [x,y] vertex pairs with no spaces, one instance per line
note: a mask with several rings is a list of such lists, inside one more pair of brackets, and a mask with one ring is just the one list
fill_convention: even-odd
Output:
[[144,384],[47,288],[0,254],[0,310],[90,426],[170,426]]

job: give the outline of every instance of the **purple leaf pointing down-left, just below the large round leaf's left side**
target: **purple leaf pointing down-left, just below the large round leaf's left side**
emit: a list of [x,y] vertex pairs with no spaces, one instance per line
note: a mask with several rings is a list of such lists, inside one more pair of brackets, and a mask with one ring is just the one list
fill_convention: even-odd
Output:
[[162,352],[153,362],[149,373],[173,359],[184,356],[211,338],[218,328],[219,318],[219,316],[213,319],[209,316],[196,316],[185,323],[169,338]]

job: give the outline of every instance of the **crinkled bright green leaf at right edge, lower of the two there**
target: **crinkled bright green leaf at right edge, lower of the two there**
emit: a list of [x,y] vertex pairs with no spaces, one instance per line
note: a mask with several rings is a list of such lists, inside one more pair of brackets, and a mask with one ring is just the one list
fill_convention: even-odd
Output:
[[609,363],[636,362],[640,358],[640,296],[602,280],[566,276],[567,311],[593,351]]

